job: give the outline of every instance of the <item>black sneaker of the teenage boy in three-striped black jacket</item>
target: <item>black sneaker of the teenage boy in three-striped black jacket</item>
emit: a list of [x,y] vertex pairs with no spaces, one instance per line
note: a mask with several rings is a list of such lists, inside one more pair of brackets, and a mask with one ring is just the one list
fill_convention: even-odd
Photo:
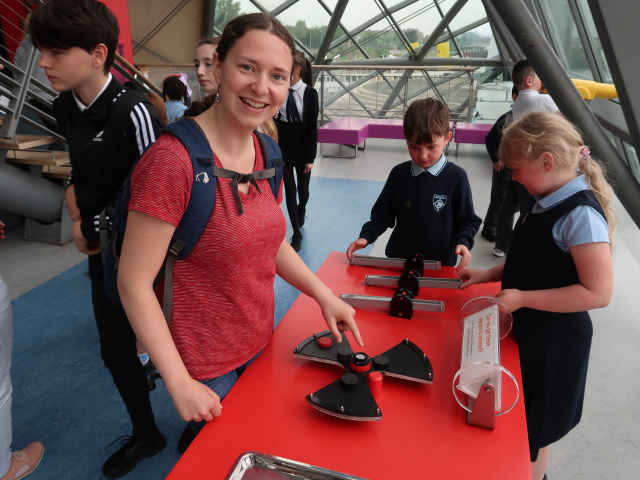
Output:
[[162,433],[158,433],[156,437],[150,439],[135,435],[123,435],[116,442],[120,439],[122,439],[120,442],[122,447],[111,455],[102,466],[102,474],[105,477],[122,477],[133,470],[140,460],[153,457],[167,446],[167,439]]

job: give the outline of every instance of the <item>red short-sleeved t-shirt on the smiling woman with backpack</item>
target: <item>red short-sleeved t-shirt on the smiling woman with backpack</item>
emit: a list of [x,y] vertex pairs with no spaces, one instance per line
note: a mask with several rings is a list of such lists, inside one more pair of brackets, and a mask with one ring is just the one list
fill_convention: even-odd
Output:
[[[257,138],[255,170],[264,162]],[[215,163],[221,167],[217,157]],[[130,210],[177,226],[191,193],[193,168],[181,143],[163,135],[140,159],[131,179]],[[275,257],[286,223],[267,180],[262,193],[240,192],[216,178],[213,215],[191,255],[173,270],[171,334],[189,374],[196,380],[223,375],[264,348],[273,331]],[[162,285],[156,293],[162,301]]]

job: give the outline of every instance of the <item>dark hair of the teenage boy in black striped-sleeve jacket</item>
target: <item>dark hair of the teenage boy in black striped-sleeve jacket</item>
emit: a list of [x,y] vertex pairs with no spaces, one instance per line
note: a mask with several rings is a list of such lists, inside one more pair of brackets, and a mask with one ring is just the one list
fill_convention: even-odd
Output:
[[105,74],[113,65],[120,35],[116,16],[95,0],[48,0],[31,14],[29,30],[37,48],[79,47],[91,53],[103,43],[107,47]]

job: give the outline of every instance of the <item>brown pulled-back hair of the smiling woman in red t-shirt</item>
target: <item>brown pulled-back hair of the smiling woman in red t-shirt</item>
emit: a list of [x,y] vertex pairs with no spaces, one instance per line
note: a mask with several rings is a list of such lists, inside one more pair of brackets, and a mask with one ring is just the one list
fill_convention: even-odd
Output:
[[227,23],[216,49],[218,60],[224,62],[224,59],[227,58],[227,53],[229,53],[236,41],[251,30],[265,30],[280,38],[291,51],[291,65],[293,68],[293,54],[296,51],[295,41],[289,30],[278,19],[267,13],[248,13],[240,15]]

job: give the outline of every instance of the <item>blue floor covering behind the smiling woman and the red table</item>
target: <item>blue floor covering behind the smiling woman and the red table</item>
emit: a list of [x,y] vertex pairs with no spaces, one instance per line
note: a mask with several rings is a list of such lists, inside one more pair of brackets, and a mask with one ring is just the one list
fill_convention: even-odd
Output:
[[[329,252],[346,251],[357,238],[382,185],[312,177],[300,256],[313,271]],[[45,445],[44,459],[30,480],[103,478],[102,463],[119,447],[109,444],[130,433],[124,406],[100,359],[86,271],[83,262],[12,302],[13,445],[21,448],[33,440]],[[299,292],[279,278],[275,292],[277,324]],[[161,382],[151,397],[168,445],[125,479],[165,478],[179,459],[176,442],[184,423]]]

